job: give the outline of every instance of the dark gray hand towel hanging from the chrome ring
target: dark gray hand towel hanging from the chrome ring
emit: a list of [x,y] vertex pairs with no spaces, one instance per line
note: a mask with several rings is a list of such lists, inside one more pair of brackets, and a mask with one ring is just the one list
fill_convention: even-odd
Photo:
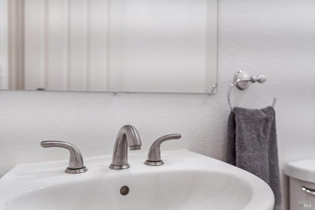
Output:
[[274,210],[281,210],[276,116],[273,107],[235,107],[228,119],[227,161],[244,169],[271,187]]

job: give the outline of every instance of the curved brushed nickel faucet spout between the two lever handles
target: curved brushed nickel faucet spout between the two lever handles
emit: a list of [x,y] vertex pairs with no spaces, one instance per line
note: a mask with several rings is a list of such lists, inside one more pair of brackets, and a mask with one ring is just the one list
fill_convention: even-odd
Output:
[[127,169],[130,167],[127,159],[127,147],[129,150],[141,150],[140,135],[132,125],[124,125],[117,134],[111,169]]

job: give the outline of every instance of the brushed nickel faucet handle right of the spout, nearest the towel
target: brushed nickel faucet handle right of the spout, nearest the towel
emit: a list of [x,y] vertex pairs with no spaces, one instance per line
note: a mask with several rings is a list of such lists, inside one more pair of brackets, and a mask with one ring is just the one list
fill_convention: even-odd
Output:
[[169,134],[166,136],[162,136],[157,141],[155,141],[152,146],[150,147],[148,153],[148,159],[144,162],[144,164],[149,166],[160,166],[163,165],[163,161],[161,160],[161,151],[160,145],[162,142],[170,139],[180,139],[182,137],[181,134]]

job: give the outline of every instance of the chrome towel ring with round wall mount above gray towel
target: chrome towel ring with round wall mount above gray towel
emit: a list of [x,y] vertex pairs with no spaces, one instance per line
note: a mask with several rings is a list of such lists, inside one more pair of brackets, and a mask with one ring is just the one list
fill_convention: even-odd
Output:
[[[250,83],[264,83],[266,82],[267,78],[264,75],[258,75],[258,76],[250,76],[247,72],[243,71],[243,70],[239,70],[238,72],[236,72],[235,76],[234,76],[234,80],[233,83],[230,85],[230,87],[227,90],[227,102],[228,102],[228,106],[230,107],[231,111],[234,112],[234,109],[231,105],[231,100],[230,100],[230,94],[231,94],[231,90],[233,89],[233,87],[236,85],[238,89],[240,90],[245,90],[249,87]],[[277,98],[274,97],[274,100],[272,102],[272,107],[276,106],[276,102],[277,102]]]

